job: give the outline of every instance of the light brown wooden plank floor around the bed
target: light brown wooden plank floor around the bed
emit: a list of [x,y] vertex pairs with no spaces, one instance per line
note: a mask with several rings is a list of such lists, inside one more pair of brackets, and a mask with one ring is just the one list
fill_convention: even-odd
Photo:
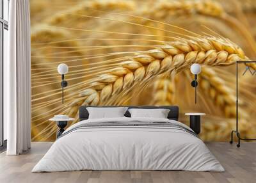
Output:
[[52,143],[32,143],[31,150],[17,156],[0,154],[0,182],[256,182],[256,143],[207,143],[225,172],[194,171],[65,171],[31,173]]

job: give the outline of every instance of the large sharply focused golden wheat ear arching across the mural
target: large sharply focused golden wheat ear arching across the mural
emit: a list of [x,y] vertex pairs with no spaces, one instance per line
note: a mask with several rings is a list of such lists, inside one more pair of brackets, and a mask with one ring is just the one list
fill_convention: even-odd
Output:
[[192,63],[226,66],[237,60],[247,59],[236,44],[227,39],[213,36],[176,38],[169,45],[132,56],[130,60],[120,63],[120,67],[102,74],[90,88],[84,90],[71,104],[68,115],[74,116],[81,105],[104,105],[107,100],[128,92],[136,84],[148,82],[164,72],[180,72]]

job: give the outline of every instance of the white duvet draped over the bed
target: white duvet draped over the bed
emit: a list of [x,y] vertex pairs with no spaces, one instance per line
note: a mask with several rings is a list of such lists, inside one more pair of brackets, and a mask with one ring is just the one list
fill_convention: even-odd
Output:
[[163,118],[84,120],[69,127],[64,135],[54,142],[32,172],[72,170],[225,171],[204,142],[187,131],[161,126],[77,128],[83,123],[131,123],[133,121],[170,122],[189,129],[180,122]]

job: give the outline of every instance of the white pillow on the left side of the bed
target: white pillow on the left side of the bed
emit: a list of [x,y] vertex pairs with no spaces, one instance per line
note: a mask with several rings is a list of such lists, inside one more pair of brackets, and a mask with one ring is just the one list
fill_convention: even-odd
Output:
[[120,118],[125,117],[124,114],[128,107],[86,107],[89,113],[89,119],[95,118]]

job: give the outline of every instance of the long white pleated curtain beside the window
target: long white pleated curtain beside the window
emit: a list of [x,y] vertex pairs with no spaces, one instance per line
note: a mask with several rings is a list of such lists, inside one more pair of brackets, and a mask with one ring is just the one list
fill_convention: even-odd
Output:
[[4,120],[8,155],[31,145],[30,15],[29,0],[10,1],[8,61],[4,68]]

